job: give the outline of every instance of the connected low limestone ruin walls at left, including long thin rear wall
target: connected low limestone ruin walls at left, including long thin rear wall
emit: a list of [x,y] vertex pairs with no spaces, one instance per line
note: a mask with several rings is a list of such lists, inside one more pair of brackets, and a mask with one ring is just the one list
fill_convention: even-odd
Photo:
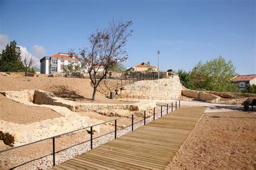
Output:
[[[64,116],[31,124],[17,124],[0,120],[0,140],[3,140],[6,145],[10,146],[31,143],[103,122],[95,118],[80,116],[75,111],[93,111],[99,109],[143,111],[152,109],[156,105],[156,102],[138,102],[132,104],[76,103],[55,97],[52,93],[43,90],[1,91],[0,93],[16,102],[30,105],[31,107],[50,108]],[[93,127],[93,132],[99,132],[99,126]],[[90,131],[90,129],[86,130]]]

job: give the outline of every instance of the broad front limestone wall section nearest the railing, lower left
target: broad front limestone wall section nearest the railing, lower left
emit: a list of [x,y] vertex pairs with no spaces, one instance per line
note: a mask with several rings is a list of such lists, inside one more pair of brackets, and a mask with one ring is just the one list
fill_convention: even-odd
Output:
[[[17,124],[0,120],[0,140],[2,139],[9,146],[19,146],[58,134],[86,128],[89,125],[93,125],[92,122],[98,124],[103,121],[98,121],[97,119],[92,120],[85,116],[59,117],[31,124]],[[93,127],[93,129],[94,132],[99,132],[99,125]]]

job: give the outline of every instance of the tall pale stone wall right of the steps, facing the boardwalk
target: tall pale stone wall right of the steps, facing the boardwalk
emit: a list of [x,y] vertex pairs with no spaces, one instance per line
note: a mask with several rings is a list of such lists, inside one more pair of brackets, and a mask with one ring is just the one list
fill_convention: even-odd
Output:
[[174,99],[180,97],[182,89],[179,76],[174,75],[168,79],[138,81],[125,86],[117,94],[122,98]]

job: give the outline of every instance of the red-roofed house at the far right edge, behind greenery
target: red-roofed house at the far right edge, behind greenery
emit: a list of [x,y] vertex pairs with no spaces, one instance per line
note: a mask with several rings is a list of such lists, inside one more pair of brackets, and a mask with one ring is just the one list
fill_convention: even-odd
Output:
[[238,91],[241,92],[242,90],[246,89],[248,84],[256,84],[256,74],[239,75],[234,78],[234,81],[236,81],[239,84]]

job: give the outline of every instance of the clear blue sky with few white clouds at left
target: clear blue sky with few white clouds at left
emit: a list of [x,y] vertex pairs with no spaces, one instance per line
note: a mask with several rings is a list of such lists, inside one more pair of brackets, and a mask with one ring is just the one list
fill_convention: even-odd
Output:
[[12,40],[39,59],[70,48],[112,19],[132,20],[129,68],[150,61],[160,70],[191,70],[223,56],[238,74],[256,74],[255,0],[0,0],[0,50]]

